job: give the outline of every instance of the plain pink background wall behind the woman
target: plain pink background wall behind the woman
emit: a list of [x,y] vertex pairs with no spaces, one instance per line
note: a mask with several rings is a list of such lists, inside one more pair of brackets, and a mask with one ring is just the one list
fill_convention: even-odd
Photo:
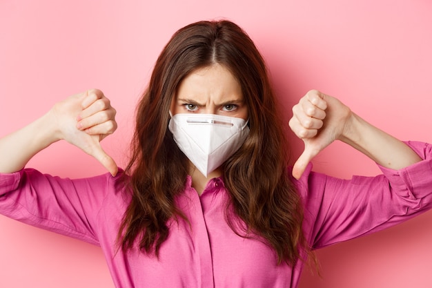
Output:
[[[402,140],[432,142],[432,1],[11,1],[0,0],[0,136],[55,102],[100,88],[119,129],[104,148],[124,166],[132,115],[153,64],[178,28],[227,18],[267,60],[286,108],[311,88],[339,97]],[[290,134],[293,156],[302,143]],[[377,168],[336,143],[315,170],[351,177]],[[29,164],[46,173],[104,173],[57,143]],[[431,287],[432,214],[317,251],[322,278],[306,268],[300,287]],[[99,248],[0,216],[0,287],[113,287]]]

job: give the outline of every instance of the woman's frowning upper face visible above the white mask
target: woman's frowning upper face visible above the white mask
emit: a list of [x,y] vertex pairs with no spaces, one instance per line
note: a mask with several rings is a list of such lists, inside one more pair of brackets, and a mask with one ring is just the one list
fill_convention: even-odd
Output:
[[203,113],[248,119],[239,82],[220,64],[199,68],[186,76],[171,101],[170,111],[173,115]]

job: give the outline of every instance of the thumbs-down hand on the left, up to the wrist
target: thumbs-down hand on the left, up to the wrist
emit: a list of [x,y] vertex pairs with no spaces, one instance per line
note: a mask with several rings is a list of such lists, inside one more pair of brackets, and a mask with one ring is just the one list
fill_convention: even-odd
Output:
[[57,123],[56,137],[95,157],[112,174],[117,164],[101,148],[100,141],[117,129],[116,111],[101,90],[88,90],[55,104],[50,111]]

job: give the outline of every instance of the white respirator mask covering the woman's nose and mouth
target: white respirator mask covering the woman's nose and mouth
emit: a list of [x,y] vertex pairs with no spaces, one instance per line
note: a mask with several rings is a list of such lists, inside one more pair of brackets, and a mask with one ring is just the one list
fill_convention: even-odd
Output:
[[206,177],[233,155],[249,134],[246,120],[215,114],[178,113],[171,116],[168,128],[180,150]]

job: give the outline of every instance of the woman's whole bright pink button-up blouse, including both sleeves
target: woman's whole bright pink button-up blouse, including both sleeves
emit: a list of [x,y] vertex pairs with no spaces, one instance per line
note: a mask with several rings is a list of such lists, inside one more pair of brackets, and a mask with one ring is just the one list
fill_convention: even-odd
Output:
[[[304,232],[318,249],[407,220],[432,204],[432,146],[409,145],[424,160],[384,175],[340,180],[311,172],[296,182],[304,198]],[[0,174],[0,213],[103,249],[116,287],[297,287],[303,264],[277,265],[273,250],[237,236],[224,219],[222,179],[199,197],[188,177],[177,204],[184,220],[170,222],[159,259],[115,246],[130,201],[119,177],[61,179],[33,169]]]

